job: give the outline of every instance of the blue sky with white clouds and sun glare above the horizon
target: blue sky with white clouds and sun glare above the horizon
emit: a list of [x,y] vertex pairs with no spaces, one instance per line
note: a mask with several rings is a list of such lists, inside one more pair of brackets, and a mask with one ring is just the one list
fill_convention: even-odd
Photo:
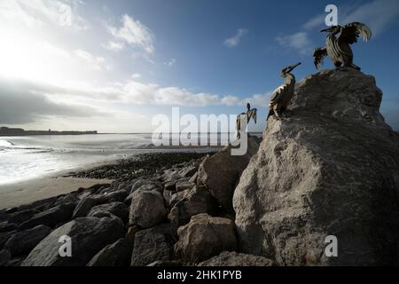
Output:
[[[355,63],[399,130],[399,1],[0,0],[0,125],[151,132],[156,114],[258,109],[262,131],[283,67],[317,72],[325,6],[372,28]],[[332,68],[329,59],[322,68]]]

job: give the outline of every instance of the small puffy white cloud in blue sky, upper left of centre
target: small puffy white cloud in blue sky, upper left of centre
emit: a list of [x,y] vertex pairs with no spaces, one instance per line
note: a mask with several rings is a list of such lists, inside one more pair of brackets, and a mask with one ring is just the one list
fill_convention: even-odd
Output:
[[151,54],[153,51],[155,51],[155,47],[153,45],[155,37],[153,36],[153,32],[150,28],[145,27],[145,25],[140,21],[134,20],[127,14],[122,16],[121,21],[121,28],[114,28],[110,26],[107,27],[111,35],[142,51],[145,51],[148,54]]

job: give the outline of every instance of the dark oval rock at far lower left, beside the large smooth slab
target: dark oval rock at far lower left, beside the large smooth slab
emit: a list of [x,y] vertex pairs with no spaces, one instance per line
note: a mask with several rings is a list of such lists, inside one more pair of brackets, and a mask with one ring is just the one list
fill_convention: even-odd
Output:
[[35,248],[49,233],[51,233],[51,228],[45,225],[37,225],[32,229],[13,234],[5,243],[4,248],[7,248],[12,256],[24,255]]

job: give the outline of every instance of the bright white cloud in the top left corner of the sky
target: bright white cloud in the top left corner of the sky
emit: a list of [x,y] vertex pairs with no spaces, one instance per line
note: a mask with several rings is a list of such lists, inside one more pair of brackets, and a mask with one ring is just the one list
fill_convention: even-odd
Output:
[[3,0],[0,2],[0,18],[19,20],[30,28],[51,23],[87,29],[87,21],[77,12],[81,4],[79,0]]

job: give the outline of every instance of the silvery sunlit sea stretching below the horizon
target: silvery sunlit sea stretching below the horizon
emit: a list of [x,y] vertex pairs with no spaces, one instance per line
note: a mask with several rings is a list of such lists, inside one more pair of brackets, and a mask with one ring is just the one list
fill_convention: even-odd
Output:
[[[220,141],[221,135],[217,133],[199,134],[196,138],[204,135],[209,141]],[[210,152],[218,148],[220,146],[154,146],[152,134],[147,133],[0,137],[0,185],[95,167],[137,154]]]

